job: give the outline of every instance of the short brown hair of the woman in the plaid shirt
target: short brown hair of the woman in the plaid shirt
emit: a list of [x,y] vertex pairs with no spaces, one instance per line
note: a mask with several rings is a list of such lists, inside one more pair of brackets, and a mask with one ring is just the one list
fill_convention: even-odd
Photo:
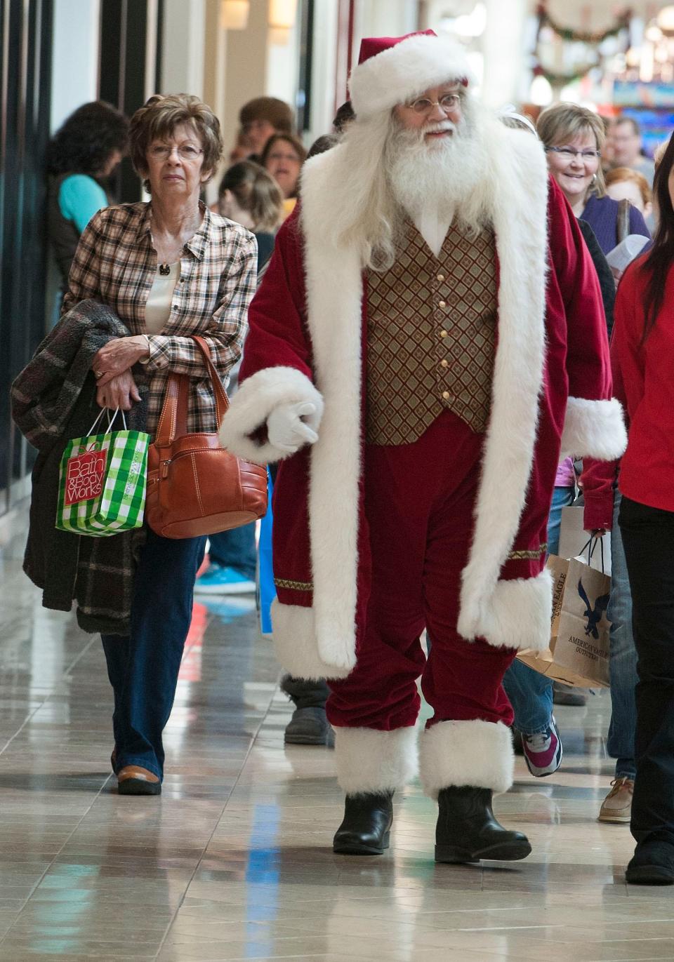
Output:
[[[181,123],[193,127],[198,135],[203,169],[209,173],[209,179],[216,172],[223,149],[218,117],[191,93],[155,93],[131,117],[129,126],[131,163],[141,177],[147,173],[147,148],[152,140],[170,137]],[[144,186],[148,187],[147,181]]]

